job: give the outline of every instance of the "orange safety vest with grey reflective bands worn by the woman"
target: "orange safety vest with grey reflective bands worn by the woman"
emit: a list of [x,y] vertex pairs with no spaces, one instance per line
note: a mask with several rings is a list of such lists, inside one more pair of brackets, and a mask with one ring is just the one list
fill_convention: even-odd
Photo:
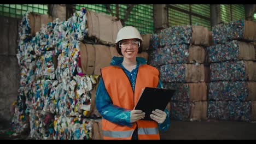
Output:
[[[147,64],[138,68],[134,92],[129,78],[120,67],[110,65],[102,68],[101,75],[113,105],[129,110],[133,110],[133,107],[137,104],[142,88],[157,87],[159,82],[158,69]],[[132,127],[127,127],[102,118],[103,139],[130,140],[136,125],[138,127],[139,140],[160,139],[158,123],[155,121],[139,120]]]

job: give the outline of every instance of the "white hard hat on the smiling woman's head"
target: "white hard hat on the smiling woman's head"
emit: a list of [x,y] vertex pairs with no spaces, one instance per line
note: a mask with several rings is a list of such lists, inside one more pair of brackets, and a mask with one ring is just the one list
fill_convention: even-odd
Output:
[[121,28],[117,34],[117,39],[115,39],[115,43],[118,43],[118,41],[123,39],[140,39],[141,41],[143,41],[138,29],[132,26],[126,26]]

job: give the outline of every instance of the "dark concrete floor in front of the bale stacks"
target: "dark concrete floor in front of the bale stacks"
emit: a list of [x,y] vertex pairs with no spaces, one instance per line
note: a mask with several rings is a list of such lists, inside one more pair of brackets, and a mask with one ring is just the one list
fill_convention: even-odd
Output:
[[[24,140],[27,135],[7,135],[0,125],[0,140]],[[256,140],[256,123],[235,121],[184,122],[171,120],[170,128],[160,132],[161,140]]]

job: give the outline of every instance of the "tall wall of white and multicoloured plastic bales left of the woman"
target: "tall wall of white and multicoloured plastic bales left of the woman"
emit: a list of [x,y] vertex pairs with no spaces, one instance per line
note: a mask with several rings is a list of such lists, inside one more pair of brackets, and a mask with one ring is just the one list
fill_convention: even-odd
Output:
[[[30,34],[28,13],[22,19],[25,22],[22,21],[20,25],[23,31],[20,31],[21,40],[17,57],[22,68],[22,76],[13,118],[15,130],[21,131],[24,124],[20,121],[25,115],[30,117],[30,121],[26,122],[30,125],[31,139],[55,139],[54,135],[59,131],[54,129],[56,126],[54,119],[60,116],[68,119],[76,117],[86,119],[86,121],[79,120],[79,124],[98,127],[98,120],[90,118],[94,110],[90,107],[90,97],[95,94],[98,76],[84,75],[79,67],[81,62],[78,55],[80,52],[78,40],[84,39],[87,31],[85,9],[74,13],[68,21],[60,22],[56,19],[42,25],[35,37],[31,37]],[[25,31],[24,27],[28,30]],[[87,121],[91,121],[92,124]],[[97,128],[88,128],[83,133],[93,133],[91,130],[94,129],[97,130]],[[74,133],[72,130],[75,129],[70,130],[65,133]],[[95,132],[98,133],[100,132]],[[98,138],[93,135],[91,137],[81,135],[79,139],[94,137]]]

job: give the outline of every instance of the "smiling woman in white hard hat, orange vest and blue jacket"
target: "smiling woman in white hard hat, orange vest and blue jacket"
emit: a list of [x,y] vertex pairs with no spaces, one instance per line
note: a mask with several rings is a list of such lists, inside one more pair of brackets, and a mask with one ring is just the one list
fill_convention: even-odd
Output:
[[133,110],[142,88],[162,88],[158,69],[136,57],[142,51],[141,42],[135,27],[121,28],[115,43],[123,57],[113,57],[110,66],[101,69],[95,101],[102,115],[103,139],[160,139],[158,128],[166,131],[170,126],[167,110],[152,111],[154,121],[143,121],[145,113]]

